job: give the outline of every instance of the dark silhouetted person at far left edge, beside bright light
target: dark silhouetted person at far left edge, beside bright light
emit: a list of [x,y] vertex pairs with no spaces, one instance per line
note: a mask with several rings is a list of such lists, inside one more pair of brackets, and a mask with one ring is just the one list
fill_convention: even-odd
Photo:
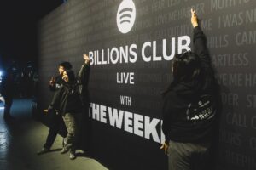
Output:
[[10,115],[10,109],[13,105],[15,82],[11,68],[7,69],[5,75],[3,76],[0,88],[0,92],[5,100],[3,118],[5,120],[13,119],[14,117]]

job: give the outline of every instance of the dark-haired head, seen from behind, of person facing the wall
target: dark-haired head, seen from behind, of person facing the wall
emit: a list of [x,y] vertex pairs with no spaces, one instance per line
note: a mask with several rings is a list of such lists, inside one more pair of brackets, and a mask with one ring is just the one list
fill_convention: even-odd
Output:
[[187,51],[176,54],[172,62],[172,73],[174,81],[189,82],[199,76],[201,63],[197,54]]

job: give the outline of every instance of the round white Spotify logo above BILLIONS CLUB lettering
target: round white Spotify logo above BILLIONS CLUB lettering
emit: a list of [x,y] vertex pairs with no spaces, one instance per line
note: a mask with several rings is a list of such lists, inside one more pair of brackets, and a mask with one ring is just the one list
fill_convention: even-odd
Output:
[[123,34],[131,31],[136,18],[136,8],[132,0],[123,0],[116,16],[119,31]]

